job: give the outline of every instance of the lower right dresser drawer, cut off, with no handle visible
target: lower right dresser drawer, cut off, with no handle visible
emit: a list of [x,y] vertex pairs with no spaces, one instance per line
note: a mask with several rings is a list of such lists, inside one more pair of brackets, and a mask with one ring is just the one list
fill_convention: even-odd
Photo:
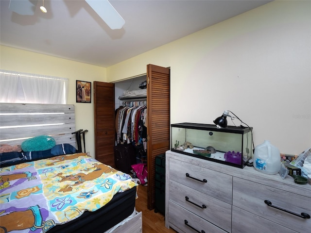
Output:
[[297,232],[233,206],[232,233],[297,233]]

